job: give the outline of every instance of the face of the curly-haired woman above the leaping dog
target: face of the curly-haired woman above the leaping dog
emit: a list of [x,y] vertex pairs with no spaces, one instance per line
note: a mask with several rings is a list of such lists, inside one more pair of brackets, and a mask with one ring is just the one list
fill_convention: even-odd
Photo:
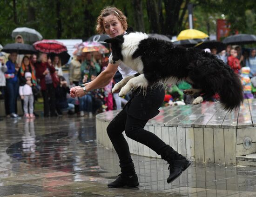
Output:
[[111,38],[115,38],[116,36],[124,33],[121,21],[118,20],[118,18],[114,14],[103,17],[103,26],[105,32]]

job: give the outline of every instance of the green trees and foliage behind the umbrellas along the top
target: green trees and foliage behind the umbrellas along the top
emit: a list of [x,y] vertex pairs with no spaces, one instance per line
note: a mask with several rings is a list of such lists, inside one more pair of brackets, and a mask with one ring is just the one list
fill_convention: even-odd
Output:
[[[147,3],[153,0],[141,0],[145,32],[152,33]],[[13,3],[16,7],[14,9]],[[128,17],[128,25],[135,26],[135,14],[132,0],[0,0],[0,44],[14,42],[13,29],[27,26],[40,32],[44,39],[87,39],[95,34],[96,19],[106,6],[120,8]],[[158,32],[176,35],[188,28],[187,3],[194,4],[194,28],[216,33],[216,19],[225,14],[231,22],[232,30],[239,33],[256,32],[255,2],[252,0],[154,0],[157,5]],[[182,12],[183,7],[184,13]],[[59,15],[58,15],[59,9]],[[16,13],[16,18],[15,18]],[[154,15],[153,15],[154,17]],[[153,18],[154,19],[154,18]],[[136,29],[135,29],[136,30]]]

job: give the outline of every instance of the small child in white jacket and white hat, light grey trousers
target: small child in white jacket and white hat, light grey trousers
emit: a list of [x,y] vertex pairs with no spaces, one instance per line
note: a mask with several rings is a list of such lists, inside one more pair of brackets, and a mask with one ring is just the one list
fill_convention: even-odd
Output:
[[[23,110],[24,110],[24,117],[25,118],[34,118],[34,96],[32,91],[32,74],[31,72],[25,72],[25,78],[27,83],[23,86],[20,86],[20,98],[24,100]],[[29,112],[28,112],[29,106]]]

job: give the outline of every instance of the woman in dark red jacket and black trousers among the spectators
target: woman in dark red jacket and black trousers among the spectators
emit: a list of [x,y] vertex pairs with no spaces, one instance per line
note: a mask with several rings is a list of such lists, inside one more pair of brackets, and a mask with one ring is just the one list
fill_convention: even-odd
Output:
[[54,66],[50,66],[47,62],[47,54],[40,55],[40,62],[36,63],[36,77],[40,79],[41,92],[44,99],[44,117],[57,116],[55,112],[55,88],[58,79],[55,76]]

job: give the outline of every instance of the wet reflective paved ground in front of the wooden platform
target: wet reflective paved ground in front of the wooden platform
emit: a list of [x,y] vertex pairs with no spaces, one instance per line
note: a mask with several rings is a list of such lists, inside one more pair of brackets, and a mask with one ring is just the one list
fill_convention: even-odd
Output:
[[95,139],[94,118],[0,121],[0,196],[256,197],[255,167],[192,164],[167,184],[165,161],[137,155],[140,186],[108,189],[118,158]]

